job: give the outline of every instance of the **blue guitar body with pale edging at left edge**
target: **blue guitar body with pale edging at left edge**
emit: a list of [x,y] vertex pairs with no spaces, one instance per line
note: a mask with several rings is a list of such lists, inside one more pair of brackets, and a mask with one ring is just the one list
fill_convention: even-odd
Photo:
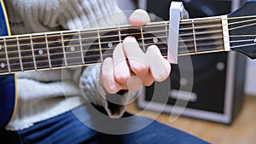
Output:
[[[10,35],[9,23],[3,0],[0,1],[0,36]],[[16,80],[15,74],[0,75],[0,129],[4,129],[15,113]]]

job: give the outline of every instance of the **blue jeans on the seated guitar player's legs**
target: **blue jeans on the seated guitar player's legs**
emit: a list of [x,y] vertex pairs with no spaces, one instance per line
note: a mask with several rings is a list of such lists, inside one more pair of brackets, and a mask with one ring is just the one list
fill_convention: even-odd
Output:
[[[97,107],[103,111],[102,107]],[[75,111],[84,113],[86,107],[78,107]],[[88,115],[88,113],[87,113]],[[125,112],[124,117],[131,114]],[[149,118],[140,118],[147,121]],[[91,118],[87,118],[90,119]],[[114,125],[108,125],[108,128]],[[174,129],[165,124],[153,121],[142,130],[124,135],[109,135],[90,129],[73,114],[65,112],[55,118],[49,118],[43,122],[33,125],[31,128],[20,131],[0,130],[0,143],[21,144],[205,144],[207,141],[189,135],[181,130]]]

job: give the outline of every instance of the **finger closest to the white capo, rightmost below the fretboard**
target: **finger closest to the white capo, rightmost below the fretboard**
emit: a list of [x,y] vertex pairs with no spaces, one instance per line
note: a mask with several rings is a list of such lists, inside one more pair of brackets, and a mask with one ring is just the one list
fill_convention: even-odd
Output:
[[160,49],[156,45],[148,47],[146,52],[149,61],[150,72],[157,82],[162,82],[169,77],[171,72],[170,63],[163,58]]

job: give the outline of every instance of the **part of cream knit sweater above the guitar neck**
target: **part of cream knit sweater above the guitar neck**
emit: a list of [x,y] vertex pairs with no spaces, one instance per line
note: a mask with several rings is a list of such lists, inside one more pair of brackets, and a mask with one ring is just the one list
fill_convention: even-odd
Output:
[[116,0],[8,0],[5,5],[14,34],[127,23]]

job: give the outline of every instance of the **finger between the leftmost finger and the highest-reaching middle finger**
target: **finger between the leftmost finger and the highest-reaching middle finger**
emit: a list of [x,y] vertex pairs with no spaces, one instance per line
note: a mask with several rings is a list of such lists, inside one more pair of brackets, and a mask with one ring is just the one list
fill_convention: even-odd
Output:
[[113,50],[113,77],[126,88],[127,80],[131,77],[130,68],[127,64],[122,43]]

